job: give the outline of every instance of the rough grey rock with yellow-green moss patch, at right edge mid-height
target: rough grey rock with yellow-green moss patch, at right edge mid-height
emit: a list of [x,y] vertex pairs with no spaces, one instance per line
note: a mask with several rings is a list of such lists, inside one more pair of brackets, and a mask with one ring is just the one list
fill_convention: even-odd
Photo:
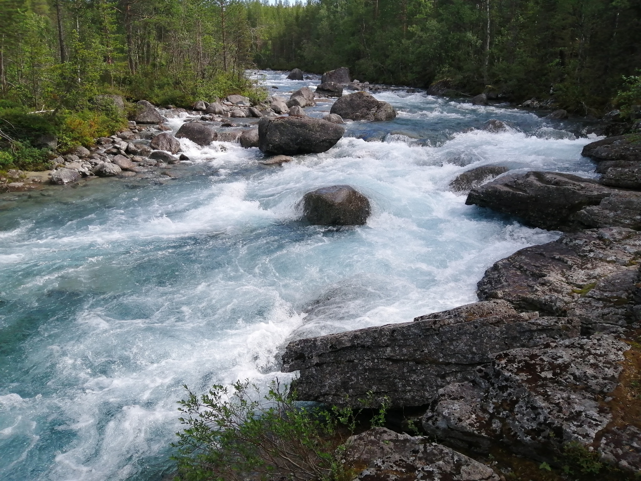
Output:
[[520,311],[567,316],[584,333],[637,319],[634,298],[641,232],[603,228],[566,233],[495,262],[478,283],[481,300],[502,299]]

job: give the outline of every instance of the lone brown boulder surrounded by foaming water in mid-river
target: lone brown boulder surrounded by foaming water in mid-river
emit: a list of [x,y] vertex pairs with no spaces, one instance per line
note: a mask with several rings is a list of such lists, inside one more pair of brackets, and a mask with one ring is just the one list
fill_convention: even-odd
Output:
[[349,185],[321,187],[307,192],[303,198],[305,218],[315,225],[363,225],[370,212],[367,197]]

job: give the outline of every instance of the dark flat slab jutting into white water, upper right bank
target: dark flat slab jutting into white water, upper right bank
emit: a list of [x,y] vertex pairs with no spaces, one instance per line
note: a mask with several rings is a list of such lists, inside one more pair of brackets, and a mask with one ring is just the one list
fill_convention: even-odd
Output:
[[641,226],[619,203],[604,202],[632,199],[641,202],[641,194],[619,189],[572,174],[530,171],[506,174],[470,190],[466,205],[488,207],[497,212],[520,217],[525,224],[548,230],[572,231],[602,226]]

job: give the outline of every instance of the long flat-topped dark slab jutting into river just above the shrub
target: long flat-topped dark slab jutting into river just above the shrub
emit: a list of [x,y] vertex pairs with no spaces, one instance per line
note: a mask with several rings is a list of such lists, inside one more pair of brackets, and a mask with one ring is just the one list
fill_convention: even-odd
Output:
[[[578,321],[518,314],[504,301],[474,303],[414,322],[290,342],[283,371],[300,371],[301,400],[392,407],[429,403],[438,389],[469,380],[497,352],[578,335]],[[349,397],[346,397],[349,396]]]

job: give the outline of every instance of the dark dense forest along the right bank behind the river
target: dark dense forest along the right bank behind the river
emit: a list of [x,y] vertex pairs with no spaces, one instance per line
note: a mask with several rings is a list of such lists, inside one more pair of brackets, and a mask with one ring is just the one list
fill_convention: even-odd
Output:
[[[468,94],[554,96],[598,114],[641,68],[639,0],[314,0],[248,5],[262,67],[426,87],[449,79]],[[491,86],[491,87],[490,87]]]

